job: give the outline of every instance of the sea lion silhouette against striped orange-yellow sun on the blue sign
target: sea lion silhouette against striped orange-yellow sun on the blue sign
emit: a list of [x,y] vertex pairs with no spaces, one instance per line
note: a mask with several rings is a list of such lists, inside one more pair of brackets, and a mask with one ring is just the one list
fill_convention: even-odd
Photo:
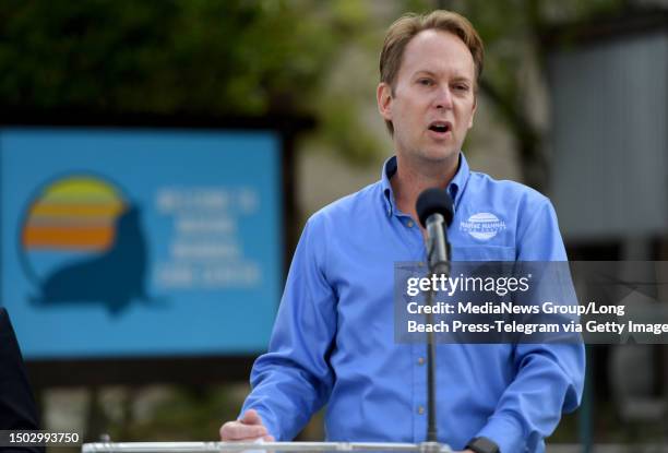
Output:
[[49,183],[21,230],[24,270],[38,306],[103,303],[119,314],[145,291],[147,247],[139,206],[110,182],[69,176]]

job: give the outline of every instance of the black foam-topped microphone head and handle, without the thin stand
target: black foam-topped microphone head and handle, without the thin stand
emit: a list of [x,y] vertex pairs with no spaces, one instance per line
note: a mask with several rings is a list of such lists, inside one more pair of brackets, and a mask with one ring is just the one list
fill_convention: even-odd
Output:
[[445,189],[427,189],[418,196],[415,211],[420,224],[427,230],[429,270],[432,274],[448,274],[450,271],[448,227],[454,216],[452,198]]

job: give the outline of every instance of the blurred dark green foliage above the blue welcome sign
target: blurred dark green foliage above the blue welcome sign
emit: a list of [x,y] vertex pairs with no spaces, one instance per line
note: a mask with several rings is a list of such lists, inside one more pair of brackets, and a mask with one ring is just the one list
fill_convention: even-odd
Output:
[[355,0],[3,1],[0,104],[121,115],[317,115],[325,141],[357,159],[375,143],[351,140],[360,135],[353,96],[336,110],[342,118],[326,114],[323,85],[368,20]]

